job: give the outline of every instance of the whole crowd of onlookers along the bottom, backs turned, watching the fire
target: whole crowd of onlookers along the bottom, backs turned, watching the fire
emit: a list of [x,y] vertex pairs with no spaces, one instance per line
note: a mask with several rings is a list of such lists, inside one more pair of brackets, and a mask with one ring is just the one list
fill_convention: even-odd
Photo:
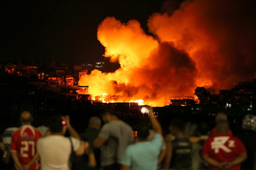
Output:
[[225,113],[215,116],[212,129],[207,122],[173,118],[170,133],[163,136],[152,108],[141,111],[148,117],[139,120],[135,137],[113,108],[91,117],[80,134],[69,116],[52,115],[35,128],[31,113],[23,111],[21,126],[0,134],[0,170],[256,170],[255,115],[244,116],[236,136]]

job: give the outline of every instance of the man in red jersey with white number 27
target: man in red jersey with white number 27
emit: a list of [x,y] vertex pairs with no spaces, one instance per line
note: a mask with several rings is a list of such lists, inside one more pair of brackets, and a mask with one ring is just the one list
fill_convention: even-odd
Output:
[[[28,111],[23,111],[19,121],[21,127],[13,133],[11,140],[11,155],[13,157],[14,169],[25,169],[23,166],[28,164],[36,153],[36,142],[42,137],[41,132],[31,126],[33,117]],[[38,161],[29,170],[40,169]]]

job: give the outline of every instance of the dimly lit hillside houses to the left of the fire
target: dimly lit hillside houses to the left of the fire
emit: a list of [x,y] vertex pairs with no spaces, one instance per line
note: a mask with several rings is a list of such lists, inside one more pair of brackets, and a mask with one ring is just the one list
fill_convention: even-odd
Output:
[[[46,90],[66,93],[71,100],[89,100],[92,96],[88,92],[88,86],[79,86],[77,81],[83,75],[90,73],[93,69],[104,71],[105,62],[93,64],[67,65],[54,61],[45,63],[23,61],[16,64],[0,65],[0,69],[11,75],[27,77],[29,83]],[[96,96],[97,102],[104,102],[105,96]]]

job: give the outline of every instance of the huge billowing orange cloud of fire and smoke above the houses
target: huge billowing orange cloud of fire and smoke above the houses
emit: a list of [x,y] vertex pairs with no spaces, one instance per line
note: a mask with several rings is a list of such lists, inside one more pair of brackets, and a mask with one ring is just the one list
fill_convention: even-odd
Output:
[[105,56],[121,68],[108,74],[93,70],[79,85],[88,85],[92,96],[107,93],[109,102],[142,99],[163,106],[167,97],[192,96],[206,81],[215,89],[251,81],[256,64],[252,14],[250,1],[185,1],[172,16],[149,17],[154,37],[136,20],[124,24],[107,17],[98,27],[98,39]]

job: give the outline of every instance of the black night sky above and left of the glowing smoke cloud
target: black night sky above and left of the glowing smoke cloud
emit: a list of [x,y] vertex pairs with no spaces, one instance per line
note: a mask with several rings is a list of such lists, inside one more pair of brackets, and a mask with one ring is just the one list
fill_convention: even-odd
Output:
[[[98,25],[108,16],[122,23],[136,19],[148,33],[154,12],[177,9],[181,1],[9,1],[1,7],[0,62],[55,60],[66,64],[103,60]],[[166,2],[165,2],[166,3]]]

